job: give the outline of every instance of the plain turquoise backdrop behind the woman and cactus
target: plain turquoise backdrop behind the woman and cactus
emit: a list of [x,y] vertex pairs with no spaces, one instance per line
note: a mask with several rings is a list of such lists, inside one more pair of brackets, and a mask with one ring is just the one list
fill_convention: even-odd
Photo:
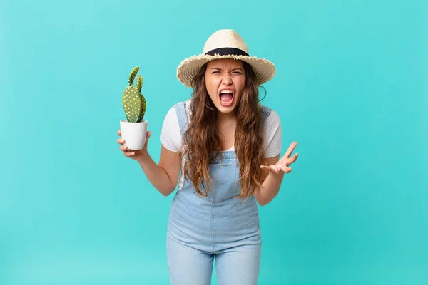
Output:
[[0,3],[0,284],[168,284],[173,195],[118,150],[121,95],[140,66],[158,162],[176,67],[220,28],[275,63],[299,143],[259,284],[428,284],[427,1]]

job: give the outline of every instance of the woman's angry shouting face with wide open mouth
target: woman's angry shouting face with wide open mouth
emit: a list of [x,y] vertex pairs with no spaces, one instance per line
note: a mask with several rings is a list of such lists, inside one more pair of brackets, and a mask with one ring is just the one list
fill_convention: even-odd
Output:
[[245,86],[242,61],[233,58],[210,61],[205,71],[205,86],[221,113],[232,113]]

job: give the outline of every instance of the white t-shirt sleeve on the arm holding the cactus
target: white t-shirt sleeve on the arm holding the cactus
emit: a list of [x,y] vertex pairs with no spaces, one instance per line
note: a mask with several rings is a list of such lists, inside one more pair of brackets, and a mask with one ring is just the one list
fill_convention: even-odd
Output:
[[178,125],[177,113],[172,107],[163,119],[161,131],[162,145],[172,152],[179,152],[181,148],[180,126]]

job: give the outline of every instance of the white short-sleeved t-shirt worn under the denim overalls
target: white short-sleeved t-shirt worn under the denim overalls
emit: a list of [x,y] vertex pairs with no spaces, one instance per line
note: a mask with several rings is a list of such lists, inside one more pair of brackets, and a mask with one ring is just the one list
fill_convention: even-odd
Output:
[[[190,118],[190,103],[191,99],[186,101],[186,112],[188,118]],[[270,115],[267,116],[263,122],[263,149],[265,150],[265,158],[275,157],[281,152],[282,144],[282,130],[281,121],[275,110],[271,110]],[[161,143],[163,147],[172,152],[179,152],[181,150],[181,133],[180,125],[178,125],[177,113],[175,108],[172,107],[168,110],[168,113],[163,120],[162,131],[161,131]],[[229,150],[235,150],[235,147],[231,147]],[[184,162],[182,162],[181,170],[183,172]],[[178,183],[178,190],[183,186],[184,177],[180,175],[180,181]]]

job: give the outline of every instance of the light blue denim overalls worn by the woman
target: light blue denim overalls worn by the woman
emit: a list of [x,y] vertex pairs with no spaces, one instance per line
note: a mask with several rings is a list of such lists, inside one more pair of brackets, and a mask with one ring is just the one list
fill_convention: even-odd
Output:
[[[185,102],[175,104],[181,135],[188,124],[185,108]],[[270,109],[262,106],[262,113],[265,120]],[[218,157],[209,165],[213,185],[208,197],[198,195],[184,179],[173,198],[167,231],[171,284],[210,284],[214,257],[218,284],[257,284],[261,249],[257,202],[254,196],[245,202],[235,199],[241,192],[236,153],[221,154],[223,162]]]

